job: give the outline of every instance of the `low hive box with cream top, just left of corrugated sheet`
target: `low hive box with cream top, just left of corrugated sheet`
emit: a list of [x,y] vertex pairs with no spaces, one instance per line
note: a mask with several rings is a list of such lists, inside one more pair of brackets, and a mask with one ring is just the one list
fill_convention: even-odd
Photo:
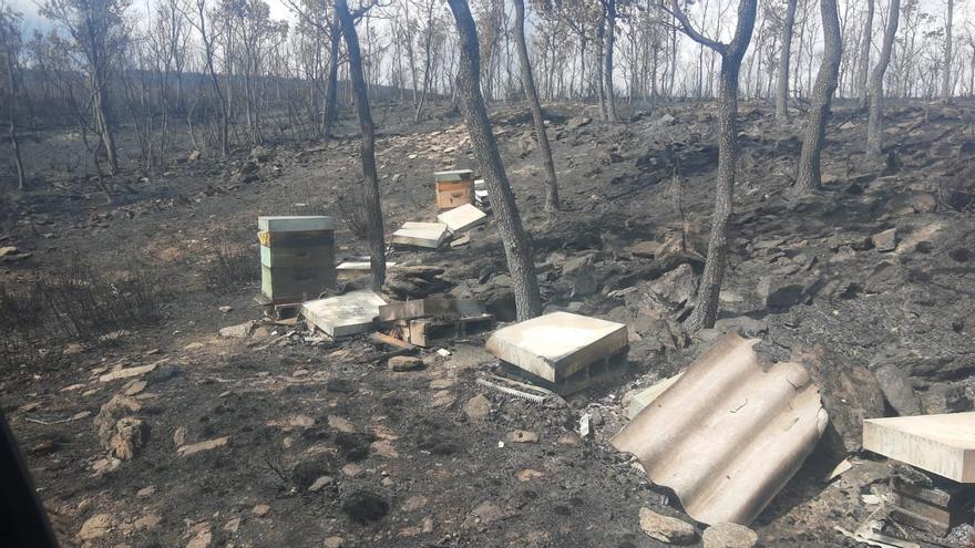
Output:
[[499,329],[486,350],[509,374],[571,394],[622,370],[629,342],[623,323],[554,312]]

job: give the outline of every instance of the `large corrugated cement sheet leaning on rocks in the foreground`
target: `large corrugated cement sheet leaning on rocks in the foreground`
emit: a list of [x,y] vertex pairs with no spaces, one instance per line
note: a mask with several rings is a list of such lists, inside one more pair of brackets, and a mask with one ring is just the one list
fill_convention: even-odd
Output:
[[704,524],[749,525],[829,418],[802,365],[762,371],[752,350],[758,341],[735,333],[716,341],[613,438]]

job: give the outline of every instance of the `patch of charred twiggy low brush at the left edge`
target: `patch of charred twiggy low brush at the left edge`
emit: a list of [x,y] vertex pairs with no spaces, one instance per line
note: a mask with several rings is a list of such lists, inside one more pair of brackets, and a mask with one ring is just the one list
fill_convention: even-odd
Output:
[[0,286],[0,369],[54,363],[53,344],[111,340],[160,319],[160,290],[145,269],[105,272],[74,258],[54,272]]

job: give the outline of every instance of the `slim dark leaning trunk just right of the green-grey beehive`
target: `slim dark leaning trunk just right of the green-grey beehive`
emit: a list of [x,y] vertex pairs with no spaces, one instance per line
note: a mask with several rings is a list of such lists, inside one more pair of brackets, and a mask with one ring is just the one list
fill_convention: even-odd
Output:
[[382,227],[382,207],[379,204],[379,174],[376,172],[376,126],[369,110],[369,89],[362,74],[362,58],[359,53],[359,37],[356,34],[356,22],[349,13],[346,0],[335,0],[336,15],[346,38],[346,51],[349,53],[349,75],[352,80],[352,92],[356,96],[356,112],[362,131],[362,177],[367,188],[366,207],[369,219],[369,252],[372,267],[372,289],[379,291],[386,282],[386,237]]

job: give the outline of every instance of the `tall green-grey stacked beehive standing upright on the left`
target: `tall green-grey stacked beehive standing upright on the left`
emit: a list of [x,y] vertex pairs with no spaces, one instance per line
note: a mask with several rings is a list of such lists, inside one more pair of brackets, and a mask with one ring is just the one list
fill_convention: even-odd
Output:
[[260,292],[271,303],[317,298],[336,287],[335,219],[258,217]]

